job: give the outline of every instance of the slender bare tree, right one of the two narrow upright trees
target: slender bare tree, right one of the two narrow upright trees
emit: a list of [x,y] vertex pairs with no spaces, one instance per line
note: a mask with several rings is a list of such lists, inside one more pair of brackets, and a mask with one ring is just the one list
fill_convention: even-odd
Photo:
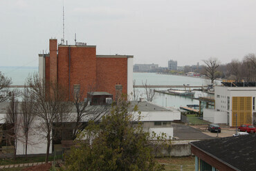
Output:
[[[26,85],[25,85],[26,87]],[[25,139],[25,159],[28,152],[28,135],[32,130],[32,124],[35,119],[35,100],[29,88],[24,88],[21,101],[21,131]]]

